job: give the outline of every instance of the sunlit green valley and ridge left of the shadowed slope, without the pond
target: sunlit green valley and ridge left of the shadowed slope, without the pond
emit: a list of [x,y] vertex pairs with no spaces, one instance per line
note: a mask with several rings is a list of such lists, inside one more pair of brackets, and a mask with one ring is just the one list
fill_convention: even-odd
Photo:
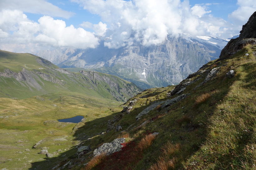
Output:
[[[41,165],[41,161],[48,160],[46,155],[39,154],[42,147],[47,147],[49,153],[55,152],[55,157],[65,153],[65,157],[57,158],[57,161],[63,161],[76,152],[71,150],[66,153],[66,150],[74,149],[80,140],[99,133],[98,128],[90,128],[86,136],[81,136],[77,135],[76,128],[87,126],[94,120],[95,124],[107,122],[113,114],[122,109],[111,109],[119,105],[117,100],[129,99],[135,93],[134,90],[138,90],[130,82],[115,76],[97,72],[89,72],[87,75],[64,74],[55,70],[57,68],[51,62],[28,53],[0,50],[0,72],[9,69],[19,73],[25,69],[42,87],[38,90],[29,80],[18,81],[14,77],[0,77],[0,169],[29,169],[32,168],[32,163],[36,164],[37,161],[41,168],[55,166],[56,162]],[[64,83],[44,80],[36,71]],[[93,76],[97,76],[97,79],[90,78]],[[109,85],[105,80],[111,81],[112,84]],[[113,83],[118,84],[122,95]],[[130,91],[126,93],[128,89]],[[84,116],[85,121],[79,124],[57,122],[57,119],[78,115]],[[58,138],[66,140],[56,140]],[[33,145],[41,140],[41,144],[32,149]],[[59,149],[62,150],[56,153]]]

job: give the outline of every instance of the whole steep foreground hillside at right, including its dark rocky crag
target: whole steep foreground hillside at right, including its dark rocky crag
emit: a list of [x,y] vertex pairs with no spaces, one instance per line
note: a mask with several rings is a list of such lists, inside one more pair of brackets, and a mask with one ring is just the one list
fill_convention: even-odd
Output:
[[[255,16],[243,30],[253,28]],[[54,169],[255,169],[255,35],[255,29],[241,31],[238,45],[231,40],[224,57],[208,62],[179,85],[144,90],[108,122],[97,126],[91,121],[99,128],[94,132],[87,131],[89,124],[80,126],[75,136],[93,137],[77,148],[90,149],[72,148],[49,159],[56,163]],[[107,127],[104,132],[101,126]],[[123,138],[123,143],[115,143]],[[115,150],[114,144],[122,149],[104,151],[110,145]],[[75,154],[58,161],[71,152]],[[36,168],[40,162],[32,165]]]

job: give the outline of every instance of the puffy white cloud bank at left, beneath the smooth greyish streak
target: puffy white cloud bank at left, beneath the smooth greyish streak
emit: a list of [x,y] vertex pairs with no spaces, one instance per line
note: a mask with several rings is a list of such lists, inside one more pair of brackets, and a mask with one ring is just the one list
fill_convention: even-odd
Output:
[[[41,17],[38,22],[31,21],[22,11],[0,11],[0,48],[7,50],[30,49],[37,47],[95,48],[99,39],[83,28],[66,26],[65,21],[54,20],[50,16]],[[33,48],[32,48],[33,49]],[[13,51],[13,50],[11,50]]]

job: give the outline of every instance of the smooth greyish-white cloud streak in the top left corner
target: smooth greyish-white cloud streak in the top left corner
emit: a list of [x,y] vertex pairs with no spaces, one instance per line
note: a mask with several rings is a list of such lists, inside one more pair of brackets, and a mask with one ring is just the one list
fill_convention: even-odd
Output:
[[1,9],[19,9],[24,12],[63,18],[70,18],[71,16],[75,15],[75,13],[62,10],[46,0],[1,0],[0,10]]

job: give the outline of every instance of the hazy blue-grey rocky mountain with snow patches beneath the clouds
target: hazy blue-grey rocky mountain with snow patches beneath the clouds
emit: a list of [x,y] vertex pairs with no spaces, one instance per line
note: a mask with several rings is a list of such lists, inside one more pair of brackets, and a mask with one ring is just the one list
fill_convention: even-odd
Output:
[[[37,55],[59,67],[93,68],[149,87],[178,84],[210,60],[219,57],[227,41],[213,37],[167,38],[159,45],[133,45],[119,49],[56,49]],[[146,85],[146,86],[145,86]],[[147,86],[148,85],[148,86]]]

